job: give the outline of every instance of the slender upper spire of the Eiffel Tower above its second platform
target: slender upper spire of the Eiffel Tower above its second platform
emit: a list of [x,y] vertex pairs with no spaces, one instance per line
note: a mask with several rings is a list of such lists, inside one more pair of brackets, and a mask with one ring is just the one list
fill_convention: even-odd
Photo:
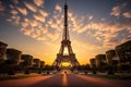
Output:
[[64,30],[63,30],[62,40],[70,40],[69,30],[68,30],[68,3],[67,3],[67,0],[64,2]]

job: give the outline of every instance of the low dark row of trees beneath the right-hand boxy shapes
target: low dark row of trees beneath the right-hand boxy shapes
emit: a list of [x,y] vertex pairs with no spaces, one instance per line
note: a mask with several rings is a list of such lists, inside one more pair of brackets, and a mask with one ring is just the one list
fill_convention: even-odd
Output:
[[[131,73],[130,70],[131,65],[128,64],[118,64],[118,65],[104,65],[102,67],[91,67],[90,64],[85,64],[85,65],[79,65],[76,67],[78,72],[83,72],[85,74],[93,73],[93,74],[97,74],[97,73],[107,73],[108,75],[115,75],[116,73]],[[74,71],[74,70],[72,70]]]

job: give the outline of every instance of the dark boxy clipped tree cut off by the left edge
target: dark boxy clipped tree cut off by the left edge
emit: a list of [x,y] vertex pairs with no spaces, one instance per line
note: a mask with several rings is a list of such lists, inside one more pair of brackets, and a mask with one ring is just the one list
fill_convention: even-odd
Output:
[[0,62],[5,59],[7,47],[7,44],[0,41]]

